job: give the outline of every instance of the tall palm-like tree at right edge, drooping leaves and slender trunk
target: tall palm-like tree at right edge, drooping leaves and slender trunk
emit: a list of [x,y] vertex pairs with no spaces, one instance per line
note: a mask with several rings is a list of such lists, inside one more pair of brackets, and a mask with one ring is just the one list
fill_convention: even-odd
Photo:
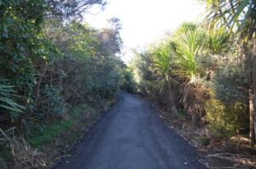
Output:
[[[211,27],[223,28],[234,33],[233,42],[240,47],[240,65],[245,66],[246,75],[249,80],[247,89],[252,93],[250,98],[255,98],[255,48],[256,48],[256,2],[254,0],[207,0],[207,20],[211,20]],[[250,141],[255,144],[255,101],[249,106],[250,110]],[[253,108],[253,109],[251,109]]]

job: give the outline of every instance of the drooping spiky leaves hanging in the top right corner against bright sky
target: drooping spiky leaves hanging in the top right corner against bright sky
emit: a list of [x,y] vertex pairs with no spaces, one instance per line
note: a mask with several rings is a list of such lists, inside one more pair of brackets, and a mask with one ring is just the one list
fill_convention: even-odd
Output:
[[[240,35],[242,42],[255,38],[255,0],[207,0],[207,20],[211,25],[227,27]],[[255,39],[254,39],[255,40]]]

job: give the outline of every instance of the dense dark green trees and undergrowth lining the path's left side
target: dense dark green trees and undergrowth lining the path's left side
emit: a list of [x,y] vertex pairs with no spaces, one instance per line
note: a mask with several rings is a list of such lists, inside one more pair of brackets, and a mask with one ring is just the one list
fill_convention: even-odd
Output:
[[84,115],[90,123],[91,110],[115,99],[124,69],[121,25],[117,18],[101,30],[82,23],[93,5],[106,3],[0,1],[0,168],[43,167],[34,148]]

